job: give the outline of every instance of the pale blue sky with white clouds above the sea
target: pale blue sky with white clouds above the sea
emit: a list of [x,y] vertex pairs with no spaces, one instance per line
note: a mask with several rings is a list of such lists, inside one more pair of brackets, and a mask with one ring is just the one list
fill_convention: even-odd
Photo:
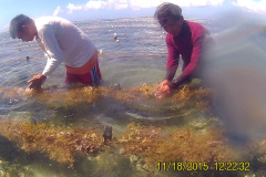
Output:
[[234,8],[266,14],[266,0],[0,0],[0,32],[8,31],[12,18],[20,13],[70,21],[153,17],[162,2],[178,4],[184,18],[213,19]]

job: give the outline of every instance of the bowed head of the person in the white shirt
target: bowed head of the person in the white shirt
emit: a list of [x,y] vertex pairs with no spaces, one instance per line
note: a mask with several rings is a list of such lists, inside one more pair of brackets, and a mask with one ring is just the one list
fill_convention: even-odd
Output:
[[24,14],[14,17],[9,25],[9,33],[12,39],[21,39],[22,41],[32,41],[38,34],[34,21]]

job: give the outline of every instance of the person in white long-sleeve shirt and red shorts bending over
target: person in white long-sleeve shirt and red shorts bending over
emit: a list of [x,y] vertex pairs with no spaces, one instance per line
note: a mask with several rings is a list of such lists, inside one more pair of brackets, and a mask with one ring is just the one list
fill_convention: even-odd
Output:
[[39,90],[62,62],[66,69],[66,83],[99,85],[102,80],[98,50],[88,35],[70,21],[58,17],[33,20],[24,14],[14,17],[9,27],[10,35],[23,42],[35,40],[47,55],[42,73],[34,75],[28,88]]

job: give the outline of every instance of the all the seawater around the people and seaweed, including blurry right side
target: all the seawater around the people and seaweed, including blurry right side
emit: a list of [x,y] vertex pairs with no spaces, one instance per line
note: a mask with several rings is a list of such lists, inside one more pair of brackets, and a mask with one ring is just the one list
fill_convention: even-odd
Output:
[[[57,92],[61,93],[65,90],[63,63],[48,77],[43,85],[50,96],[53,94],[51,97],[21,96],[20,92],[24,92],[28,80],[42,72],[47,59],[35,42],[12,40],[9,33],[4,32],[0,34],[1,119],[19,119],[22,122],[30,119],[33,123],[43,122],[62,127],[83,129],[103,129],[105,125],[111,125],[114,137],[119,137],[126,125],[133,122],[145,126],[154,125],[170,132],[193,127],[204,133],[207,132],[209,122],[215,119],[214,122],[225,126],[225,134],[232,140],[229,142],[232,148],[235,148],[237,153],[245,152],[248,148],[248,145],[243,147],[242,143],[245,139],[253,138],[254,142],[259,142],[266,137],[264,132],[266,127],[266,98],[265,94],[263,94],[266,83],[264,82],[264,56],[266,55],[264,52],[266,37],[264,30],[254,31],[253,29],[259,29],[260,25],[257,24],[254,28],[246,28],[245,24],[239,25],[239,28],[237,25],[228,28],[228,25],[223,25],[222,20],[187,20],[202,23],[218,43],[211,48],[207,56],[211,64],[206,67],[206,81],[217,90],[218,95],[215,97],[215,115],[211,116],[196,107],[195,104],[200,102],[198,100],[186,103],[173,102],[166,98],[158,103],[154,98],[140,97],[136,102],[125,104],[106,96],[90,103],[78,103],[75,97],[72,97],[73,103],[70,106],[58,100],[51,101],[51,104],[49,100],[52,100]],[[74,23],[103,52],[103,58],[99,59],[99,61],[104,87],[120,84],[122,91],[129,91],[129,93],[125,93],[129,96],[131,94],[130,88],[140,85],[154,86],[163,80],[167,58],[165,32],[153,18],[88,20]],[[241,34],[239,31],[243,31],[243,27],[246,30]],[[119,41],[114,39],[114,33],[116,33],[116,40]],[[250,58],[246,58],[244,62],[238,62],[244,55]],[[28,56],[29,60],[27,60]],[[250,60],[255,62],[248,62]],[[239,66],[238,63],[245,63],[245,65]],[[221,69],[223,65],[225,67]],[[238,67],[235,67],[236,65]],[[178,70],[176,75],[180,73]],[[244,87],[247,87],[247,91]],[[16,91],[13,95],[12,90]],[[0,143],[0,166],[2,174],[6,173],[6,175],[9,173],[16,176],[21,176],[21,174],[27,176],[28,174],[37,177],[135,177],[153,175],[204,176],[204,174],[215,176],[259,176],[266,173],[264,162],[266,153],[257,153],[257,158],[252,158],[249,156],[255,155],[249,152],[253,150],[249,150],[249,154],[242,154],[242,159],[253,159],[247,162],[250,163],[252,168],[246,171],[217,171],[212,169],[209,171],[197,170],[180,174],[177,169],[172,169],[171,173],[167,173],[167,170],[158,171],[157,167],[145,170],[143,164],[134,160],[137,157],[123,156],[117,149],[105,150],[96,156],[83,155],[82,160],[78,160],[79,163],[75,163],[73,168],[69,168],[68,165],[49,159],[47,154],[24,154],[20,147],[17,147],[12,140],[7,138],[9,137],[1,137]],[[237,142],[238,139],[241,140]],[[234,144],[234,140],[236,140],[236,144]],[[264,142],[260,143],[263,146]]]

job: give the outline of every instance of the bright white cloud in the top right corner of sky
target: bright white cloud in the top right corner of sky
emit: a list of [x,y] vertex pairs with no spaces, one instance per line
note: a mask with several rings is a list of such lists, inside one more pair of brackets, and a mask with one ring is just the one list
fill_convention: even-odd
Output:
[[266,0],[260,0],[258,2],[255,2],[254,0],[237,0],[234,4],[253,11],[266,12]]

